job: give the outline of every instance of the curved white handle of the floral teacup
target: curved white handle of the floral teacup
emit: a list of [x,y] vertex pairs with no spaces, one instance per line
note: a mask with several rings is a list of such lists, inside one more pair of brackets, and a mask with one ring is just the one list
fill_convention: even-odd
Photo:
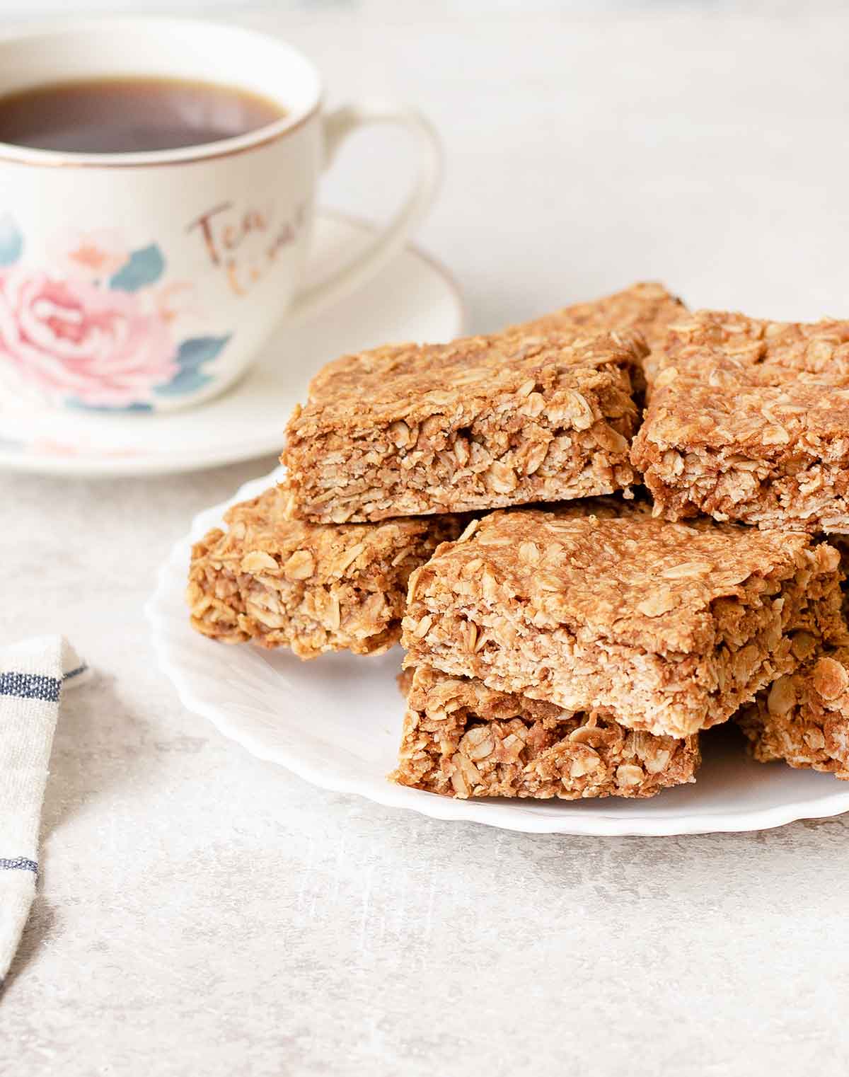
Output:
[[420,112],[407,106],[366,100],[345,104],[329,113],[324,117],[324,167],[333,162],[348,135],[368,124],[395,124],[415,137],[419,168],[413,190],[398,213],[375,235],[365,250],[359,251],[347,265],[295,296],[287,312],[288,319],[315,314],[321,307],[382,269],[422,221],[436,196],[442,176],[442,146],[431,124]]

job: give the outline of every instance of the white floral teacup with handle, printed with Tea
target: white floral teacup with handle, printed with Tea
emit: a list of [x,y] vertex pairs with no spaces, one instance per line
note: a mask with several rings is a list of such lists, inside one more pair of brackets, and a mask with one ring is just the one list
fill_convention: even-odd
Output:
[[[275,38],[172,18],[109,18],[0,39],[0,95],[92,76],[209,80],[279,102],[278,121],[177,150],[65,153],[0,143],[0,379],[52,404],[198,404],[283,318],[377,272],[433,201],[436,137],[415,110],[325,113],[314,66]],[[365,250],[304,289],[319,176],[364,124],[409,130],[419,169]],[[281,361],[282,358],[281,358]]]

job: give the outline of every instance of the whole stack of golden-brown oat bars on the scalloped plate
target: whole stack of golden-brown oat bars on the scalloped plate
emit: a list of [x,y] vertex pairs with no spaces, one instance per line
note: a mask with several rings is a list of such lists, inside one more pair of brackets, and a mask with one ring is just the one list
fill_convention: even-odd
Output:
[[344,356],[281,460],[196,544],[192,624],[302,658],[401,640],[393,781],[653,796],[729,718],[849,779],[849,322],[637,284]]

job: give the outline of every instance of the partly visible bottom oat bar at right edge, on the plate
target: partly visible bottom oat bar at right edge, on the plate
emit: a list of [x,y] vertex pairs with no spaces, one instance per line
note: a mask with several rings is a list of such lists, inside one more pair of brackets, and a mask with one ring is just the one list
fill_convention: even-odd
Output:
[[849,646],[817,652],[736,722],[760,763],[783,759],[849,781]]

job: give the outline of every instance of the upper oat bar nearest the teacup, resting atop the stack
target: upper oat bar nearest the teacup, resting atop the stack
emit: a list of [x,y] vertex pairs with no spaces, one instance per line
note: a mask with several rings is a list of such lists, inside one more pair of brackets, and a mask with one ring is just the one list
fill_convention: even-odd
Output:
[[507,332],[347,356],[297,408],[292,517],[340,523],[611,493],[634,480],[638,337]]

